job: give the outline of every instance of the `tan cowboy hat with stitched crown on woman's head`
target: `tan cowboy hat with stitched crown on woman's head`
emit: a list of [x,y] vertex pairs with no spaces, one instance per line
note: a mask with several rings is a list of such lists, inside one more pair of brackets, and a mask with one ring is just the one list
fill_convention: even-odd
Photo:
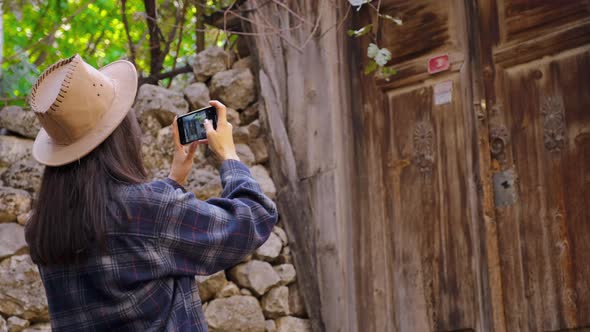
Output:
[[33,157],[48,166],[76,161],[102,143],[123,121],[137,91],[128,61],[99,70],[79,55],[47,68],[31,90],[29,104],[43,128]]

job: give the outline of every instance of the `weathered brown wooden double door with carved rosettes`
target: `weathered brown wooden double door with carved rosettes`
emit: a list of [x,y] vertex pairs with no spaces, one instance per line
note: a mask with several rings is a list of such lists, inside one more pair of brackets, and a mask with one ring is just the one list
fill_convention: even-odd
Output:
[[[404,24],[355,22],[359,330],[590,328],[588,1],[380,4]],[[362,74],[370,42],[397,75]]]

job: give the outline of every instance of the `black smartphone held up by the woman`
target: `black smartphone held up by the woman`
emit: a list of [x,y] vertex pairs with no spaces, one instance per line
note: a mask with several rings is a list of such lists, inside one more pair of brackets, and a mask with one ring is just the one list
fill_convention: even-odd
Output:
[[179,116],[177,125],[180,144],[186,145],[194,141],[206,139],[205,119],[209,119],[213,123],[213,128],[217,129],[217,110],[213,106],[201,108]]

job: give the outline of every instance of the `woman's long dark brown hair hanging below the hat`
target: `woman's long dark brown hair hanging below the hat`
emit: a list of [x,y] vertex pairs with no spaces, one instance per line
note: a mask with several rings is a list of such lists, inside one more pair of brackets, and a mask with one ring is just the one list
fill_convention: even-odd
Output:
[[141,129],[129,112],[115,131],[79,161],[45,167],[25,236],[40,265],[76,264],[104,250],[107,204],[115,186],[144,182]]

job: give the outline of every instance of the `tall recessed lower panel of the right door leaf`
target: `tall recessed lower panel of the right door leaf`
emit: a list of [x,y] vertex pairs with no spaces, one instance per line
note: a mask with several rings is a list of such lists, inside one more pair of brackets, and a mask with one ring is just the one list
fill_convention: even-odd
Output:
[[[541,72],[542,75],[539,75]],[[508,330],[590,325],[590,48],[499,73],[518,203],[497,206]],[[539,78],[541,76],[541,78]]]

